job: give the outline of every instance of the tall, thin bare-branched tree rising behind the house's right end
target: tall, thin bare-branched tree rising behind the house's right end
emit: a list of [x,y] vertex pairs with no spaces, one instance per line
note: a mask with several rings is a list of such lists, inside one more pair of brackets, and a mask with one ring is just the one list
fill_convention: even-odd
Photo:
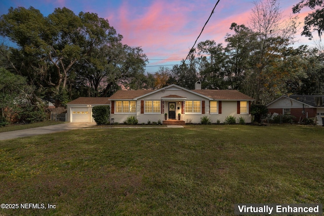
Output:
[[[266,0],[255,3],[250,19],[250,28],[257,34],[255,50],[250,56],[249,78],[253,83],[248,95],[255,98],[256,103],[266,104],[272,100],[268,92],[273,85],[268,85],[270,77],[281,82],[287,74],[274,70],[273,66],[280,62],[282,53],[292,44],[296,33],[296,18],[283,21],[282,12],[277,0]],[[246,84],[249,84],[246,82]]]

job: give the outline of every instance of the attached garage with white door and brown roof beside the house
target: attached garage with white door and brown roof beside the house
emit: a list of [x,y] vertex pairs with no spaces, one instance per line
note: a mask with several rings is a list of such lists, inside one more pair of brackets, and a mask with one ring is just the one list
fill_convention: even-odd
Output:
[[92,108],[99,105],[110,106],[109,98],[80,97],[67,103],[68,122],[95,122],[92,117]]

